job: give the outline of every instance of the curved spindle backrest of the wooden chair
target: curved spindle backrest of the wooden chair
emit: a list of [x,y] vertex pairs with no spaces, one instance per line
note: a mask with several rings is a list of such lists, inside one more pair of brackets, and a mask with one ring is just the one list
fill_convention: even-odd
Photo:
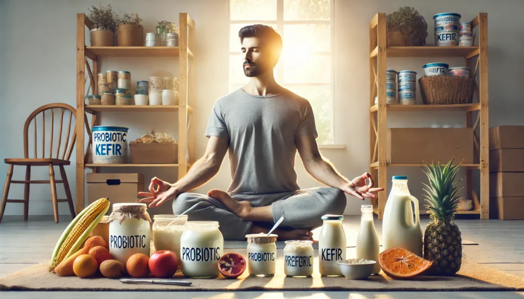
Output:
[[[48,110],[51,110],[50,112]],[[47,112],[47,113],[46,113]],[[37,123],[37,116],[41,114],[41,127],[38,128],[38,122]],[[50,130],[46,134],[46,116],[47,119],[50,118],[50,123],[48,123],[48,127],[50,127]],[[57,130],[59,130],[58,135],[55,134],[54,129],[54,122],[55,117],[60,118],[60,124],[59,127],[57,127]],[[65,121],[64,121],[65,119]],[[72,106],[64,103],[52,103],[43,105],[39,108],[37,108],[34,112],[32,112],[29,117],[26,120],[26,123],[24,125],[24,158],[29,158],[29,153],[33,151],[29,151],[29,125],[34,123],[34,134],[35,134],[35,143],[34,143],[34,153],[35,157],[33,158],[54,158],[54,159],[62,159],[62,160],[69,160],[71,158],[71,153],[74,148],[74,143],[77,139],[77,130],[76,128],[76,121],[77,121],[77,110],[75,110]],[[64,133],[62,134],[62,128],[64,128],[65,123],[67,122],[67,128],[65,128]],[[38,156],[38,143],[37,143],[37,135],[38,131],[41,131],[41,156]],[[63,135],[63,136],[62,136]],[[46,138],[50,139],[46,139]],[[56,146],[53,144],[53,141],[56,142]],[[49,153],[46,154],[46,142],[49,147]],[[56,150],[53,151],[53,146],[55,146]],[[61,151],[61,149],[63,149]]]

